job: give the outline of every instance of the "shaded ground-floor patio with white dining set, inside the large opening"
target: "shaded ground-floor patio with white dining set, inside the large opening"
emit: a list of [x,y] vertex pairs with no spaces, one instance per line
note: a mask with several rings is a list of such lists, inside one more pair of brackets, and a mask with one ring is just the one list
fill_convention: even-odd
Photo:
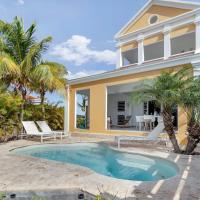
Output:
[[[147,83],[151,84],[151,80]],[[146,83],[146,84],[147,84]],[[156,101],[136,103],[133,91],[141,81],[107,87],[107,129],[151,132],[160,121],[161,106]],[[178,108],[173,108],[174,126],[178,125]]]

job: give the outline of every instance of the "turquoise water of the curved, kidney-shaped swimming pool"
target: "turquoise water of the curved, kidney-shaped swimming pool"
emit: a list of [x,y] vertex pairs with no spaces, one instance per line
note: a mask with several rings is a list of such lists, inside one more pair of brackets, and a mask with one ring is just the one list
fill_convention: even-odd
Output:
[[157,181],[178,173],[177,165],[166,159],[124,153],[105,144],[37,145],[15,149],[14,153],[76,164],[99,174],[125,180]]

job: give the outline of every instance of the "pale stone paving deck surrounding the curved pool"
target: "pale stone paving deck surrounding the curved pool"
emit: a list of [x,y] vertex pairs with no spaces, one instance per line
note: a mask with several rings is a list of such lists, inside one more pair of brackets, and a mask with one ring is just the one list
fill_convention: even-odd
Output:
[[[73,137],[63,140],[62,143],[81,141],[98,142],[102,139]],[[117,195],[117,199],[200,199],[200,156],[176,155],[150,148],[122,148],[123,151],[167,158],[176,162],[180,168],[180,173],[169,180],[138,182],[110,178],[77,165],[19,156],[9,152],[13,148],[34,144],[38,142],[18,140],[0,145],[0,191],[33,191],[47,196],[53,193],[54,197],[57,191],[57,195],[62,194],[62,198],[60,196],[47,199],[69,200],[70,198],[66,198],[67,191],[80,189],[94,195],[99,192]]]

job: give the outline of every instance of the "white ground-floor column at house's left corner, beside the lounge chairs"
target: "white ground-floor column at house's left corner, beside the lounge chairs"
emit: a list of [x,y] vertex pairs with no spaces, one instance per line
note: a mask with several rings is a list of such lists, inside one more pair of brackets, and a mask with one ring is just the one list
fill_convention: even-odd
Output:
[[66,88],[64,99],[64,133],[69,135],[69,86]]

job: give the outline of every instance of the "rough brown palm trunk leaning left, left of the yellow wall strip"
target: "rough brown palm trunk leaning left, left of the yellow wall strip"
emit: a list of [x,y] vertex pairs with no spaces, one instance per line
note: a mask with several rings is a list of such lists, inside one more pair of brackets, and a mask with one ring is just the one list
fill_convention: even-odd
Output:
[[172,111],[171,108],[163,107],[163,121],[165,125],[165,130],[169,136],[169,139],[173,145],[174,152],[175,153],[181,153],[181,150],[179,148],[175,132],[174,132],[174,125],[172,120]]

